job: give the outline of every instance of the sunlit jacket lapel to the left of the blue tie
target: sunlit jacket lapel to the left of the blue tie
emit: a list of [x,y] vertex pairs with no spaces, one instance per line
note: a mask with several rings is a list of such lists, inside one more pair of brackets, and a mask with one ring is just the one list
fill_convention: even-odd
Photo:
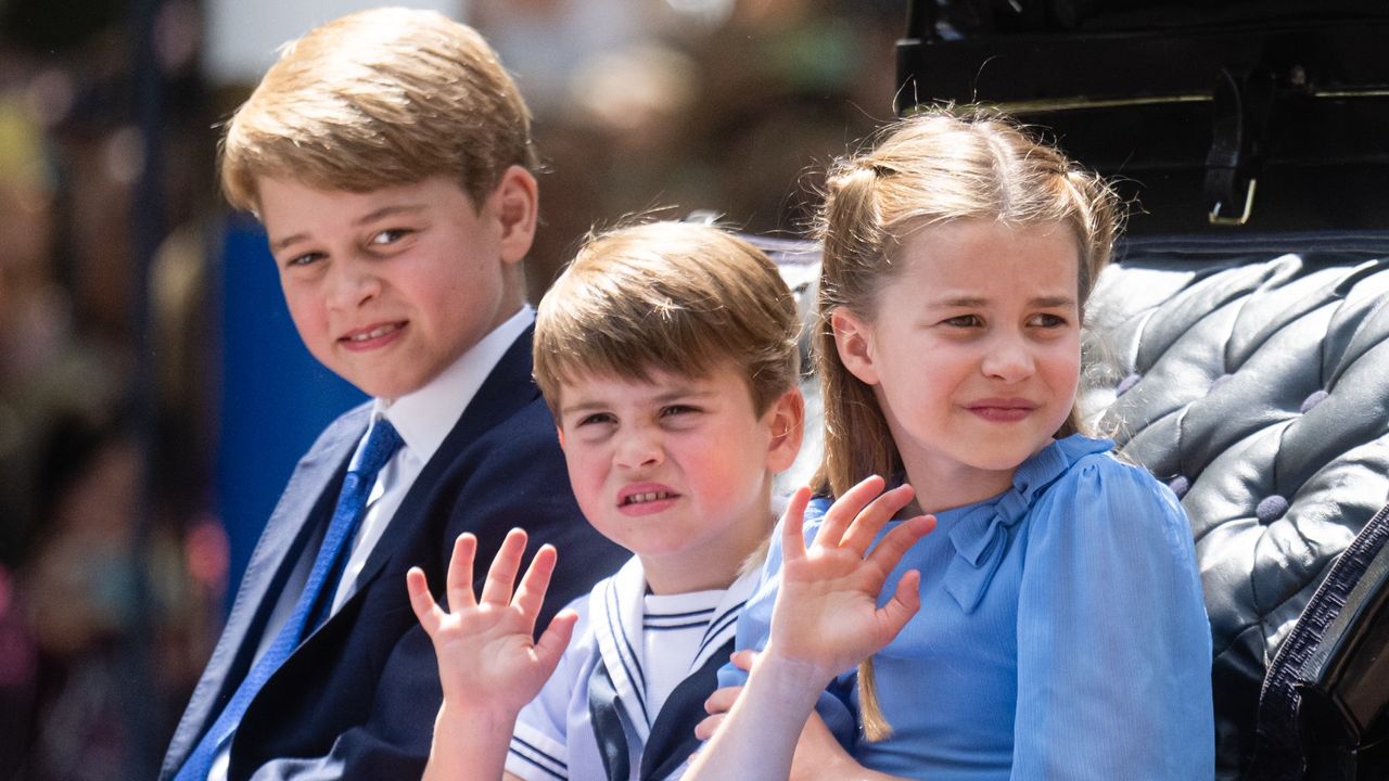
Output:
[[169,742],[161,775],[172,775],[250,667],[278,592],[313,536],[311,520],[332,511],[347,459],[367,429],[369,404],[339,417],[300,459],[246,566],[213,656]]

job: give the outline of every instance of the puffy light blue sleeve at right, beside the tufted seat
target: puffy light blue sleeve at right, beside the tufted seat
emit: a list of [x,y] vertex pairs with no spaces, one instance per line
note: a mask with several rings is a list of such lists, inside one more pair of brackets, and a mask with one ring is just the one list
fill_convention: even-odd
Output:
[[1176,498],[1101,454],[1033,513],[1013,778],[1211,778],[1210,623]]

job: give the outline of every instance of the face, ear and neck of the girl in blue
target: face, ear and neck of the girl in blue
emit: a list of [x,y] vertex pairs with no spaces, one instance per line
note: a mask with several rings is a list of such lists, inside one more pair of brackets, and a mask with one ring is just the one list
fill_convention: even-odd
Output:
[[1051,442],[1081,367],[1079,257],[1064,225],[960,220],[907,236],[872,313],[832,315],[925,511],[1004,491]]

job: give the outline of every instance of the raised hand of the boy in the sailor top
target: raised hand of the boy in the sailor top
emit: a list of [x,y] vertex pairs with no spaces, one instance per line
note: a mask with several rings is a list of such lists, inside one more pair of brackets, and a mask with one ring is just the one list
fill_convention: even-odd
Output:
[[553,546],[542,546],[519,588],[513,591],[525,542],[521,529],[507,534],[488,570],[482,596],[475,599],[472,570],[478,539],[460,535],[449,561],[447,610],[435,603],[424,571],[414,567],[406,577],[410,605],[433,641],[444,703],[450,709],[514,718],[549,680],[569,642],[578,620],[572,610],[560,611],[540,641],[533,641],[557,554]]

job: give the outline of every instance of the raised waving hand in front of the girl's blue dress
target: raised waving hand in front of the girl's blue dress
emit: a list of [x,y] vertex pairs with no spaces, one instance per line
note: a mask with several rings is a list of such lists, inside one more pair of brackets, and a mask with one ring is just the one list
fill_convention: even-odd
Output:
[[914,517],[870,552],[878,532],[913,498],[908,485],[888,492],[883,485],[881,477],[870,477],[849,489],[825,513],[808,548],[803,523],[810,489],[792,496],[782,521],[785,564],[767,650],[811,664],[825,682],[888,645],[921,606],[921,574],[911,570],[878,607],[892,568],[935,527],[933,517]]

